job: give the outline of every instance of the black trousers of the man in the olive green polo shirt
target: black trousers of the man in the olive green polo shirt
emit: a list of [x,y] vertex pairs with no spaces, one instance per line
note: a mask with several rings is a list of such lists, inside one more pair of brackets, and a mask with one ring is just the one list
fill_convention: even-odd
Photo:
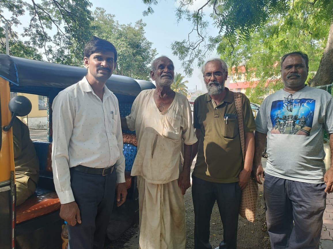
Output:
[[217,201],[223,224],[220,249],[237,248],[238,210],[241,189],[238,182],[213,183],[192,176],[194,207],[194,248],[211,249],[209,243],[210,216]]

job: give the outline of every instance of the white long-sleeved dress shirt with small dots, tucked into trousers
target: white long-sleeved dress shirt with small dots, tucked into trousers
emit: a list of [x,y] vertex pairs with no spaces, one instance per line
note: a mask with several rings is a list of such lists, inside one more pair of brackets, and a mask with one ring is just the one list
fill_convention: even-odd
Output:
[[115,165],[117,183],[125,182],[118,100],[106,86],[101,101],[84,77],[59,92],[52,111],[52,169],[61,204],[75,201],[69,168],[79,164],[92,168]]

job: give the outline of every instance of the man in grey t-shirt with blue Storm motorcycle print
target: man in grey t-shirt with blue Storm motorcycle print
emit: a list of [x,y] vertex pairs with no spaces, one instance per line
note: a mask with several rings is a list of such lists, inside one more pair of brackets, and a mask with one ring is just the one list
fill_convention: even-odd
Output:
[[[333,155],[333,99],[305,85],[308,56],[281,59],[284,88],[269,95],[256,117],[253,173],[264,181],[267,228],[272,248],[319,248],[326,193],[333,192],[333,160],[325,172],[323,135]],[[265,174],[261,154],[267,136]]]

